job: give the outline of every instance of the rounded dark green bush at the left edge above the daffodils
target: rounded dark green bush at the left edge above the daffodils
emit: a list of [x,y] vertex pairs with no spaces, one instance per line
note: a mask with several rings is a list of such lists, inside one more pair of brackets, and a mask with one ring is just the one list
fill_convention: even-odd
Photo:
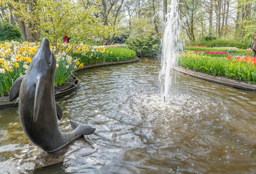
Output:
[[19,29],[9,23],[0,23],[0,40],[20,41],[21,35]]

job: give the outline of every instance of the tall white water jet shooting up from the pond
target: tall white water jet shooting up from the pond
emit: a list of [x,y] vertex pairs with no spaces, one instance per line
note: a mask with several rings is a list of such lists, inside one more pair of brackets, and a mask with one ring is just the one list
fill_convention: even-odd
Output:
[[173,65],[175,65],[175,60],[177,59],[180,47],[178,39],[180,33],[180,17],[177,6],[177,0],[173,0],[170,4],[170,13],[168,13],[164,24],[161,70],[159,72],[161,93],[164,96],[164,100],[168,99],[170,82],[172,81],[170,70]]

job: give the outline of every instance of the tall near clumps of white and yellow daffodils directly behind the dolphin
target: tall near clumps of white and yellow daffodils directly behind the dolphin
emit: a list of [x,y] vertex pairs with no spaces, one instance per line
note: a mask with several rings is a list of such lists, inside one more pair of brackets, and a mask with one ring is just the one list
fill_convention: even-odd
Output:
[[[0,43],[0,95],[8,93],[12,84],[21,75],[26,74],[31,59],[35,55],[39,43],[28,42],[5,42]],[[51,47],[51,49],[54,49]],[[65,52],[59,52],[56,57],[56,78],[55,86],[63,84],[71,75],[76,65],[79,65],[77,59],[72,59]]]

